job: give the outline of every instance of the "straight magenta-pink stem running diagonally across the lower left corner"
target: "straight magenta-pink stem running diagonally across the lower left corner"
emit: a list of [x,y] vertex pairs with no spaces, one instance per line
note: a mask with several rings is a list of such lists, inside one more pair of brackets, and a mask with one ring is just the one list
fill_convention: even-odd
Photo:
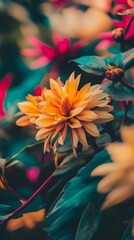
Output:
[[51,174],[47,180],[33,193],[33,195],[31,197],[29,197],[25,203],[23,203],[20,207],[18,207],[17,209],[15,209],[15,211],[13,213],[11,213],[11,215],[9,215],[8,218],[6,218],[5,220],[0,222],[0,225],[6,223],[8,220],[10,220],[11,218],[13,218],[14,216],[16,216],[19,212],[21,212],[24,208],[27,207],[28,204],[30,204],[39,194],[40,192],[43,190],[43,188],[49,183],[49,181],[53,178],[53,174]]

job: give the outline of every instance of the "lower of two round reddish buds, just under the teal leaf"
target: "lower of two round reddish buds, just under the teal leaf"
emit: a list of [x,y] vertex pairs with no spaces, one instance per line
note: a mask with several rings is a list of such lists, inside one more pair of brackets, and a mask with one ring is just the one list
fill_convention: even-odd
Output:
[[121,68],[109,69],[105,72],[105,76],[109,80],[112,80],[117,83],[122,80],[122,78],[124,76],[124,70]]

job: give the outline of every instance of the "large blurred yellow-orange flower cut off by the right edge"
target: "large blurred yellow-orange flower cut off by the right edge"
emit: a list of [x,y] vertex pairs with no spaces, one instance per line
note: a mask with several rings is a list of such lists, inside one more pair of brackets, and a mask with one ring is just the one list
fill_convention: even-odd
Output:
[[98,166],[91,176],[104,176],[98,191],[108,195],[103,209],[134,196],[134,125],[121,128],[124,142],[111,143],[107,147],[113,162]]

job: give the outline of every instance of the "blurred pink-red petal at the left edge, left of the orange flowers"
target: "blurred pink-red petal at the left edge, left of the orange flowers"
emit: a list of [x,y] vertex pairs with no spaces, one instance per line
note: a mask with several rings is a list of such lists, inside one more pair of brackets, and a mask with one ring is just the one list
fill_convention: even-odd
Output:
[[5,117],[4,100],[6,98],[7,90],[12,79],[13,75],[11,73],[8,73],[0,81],[0,120]]

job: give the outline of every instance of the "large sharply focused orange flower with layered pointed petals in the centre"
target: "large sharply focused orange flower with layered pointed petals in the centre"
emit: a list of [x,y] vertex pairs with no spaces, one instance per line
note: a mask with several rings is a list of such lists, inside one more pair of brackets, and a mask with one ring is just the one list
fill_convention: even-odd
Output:
[[36,140],[45,140],[44,151],[50,151],[52,147],[56,152],[58,145],[64,144],[67,133],[70,133],[76,155],[78,142],[88,145],[86,132],[98,137],[96,123],[113,119],[109,113],[112,110],[112,106],[108,105],[109,97],[103,93],[101,85],[90,86],[88,83],[78,90],[79,82],[80,75],[75,79],[74,73],[65,85],[60,79],[50,79],[50,90],[44,92],[45,101],[38,104],[42,113],[35,121],[40,128]]

